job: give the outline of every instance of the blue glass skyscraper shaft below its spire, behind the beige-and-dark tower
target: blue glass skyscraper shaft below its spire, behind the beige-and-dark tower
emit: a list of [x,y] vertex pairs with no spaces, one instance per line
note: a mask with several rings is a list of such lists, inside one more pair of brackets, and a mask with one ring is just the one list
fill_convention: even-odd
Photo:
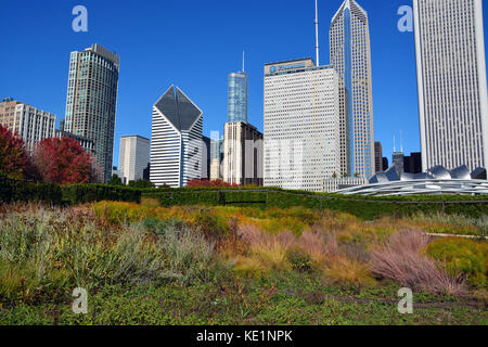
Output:
[[228,121],[247,123],[247,74],[229,75],[229,108]]

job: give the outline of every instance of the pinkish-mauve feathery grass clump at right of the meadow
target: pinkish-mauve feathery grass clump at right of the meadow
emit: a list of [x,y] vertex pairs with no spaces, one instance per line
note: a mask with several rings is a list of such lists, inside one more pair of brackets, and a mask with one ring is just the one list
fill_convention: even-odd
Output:
[[381,249],[371,254],[371,271],[393,279],[412,290],[431,293],[461,294],[461,279],[451,278],[434,260],[421,255],[429,237],[418,230],[404,230],[391,235]]

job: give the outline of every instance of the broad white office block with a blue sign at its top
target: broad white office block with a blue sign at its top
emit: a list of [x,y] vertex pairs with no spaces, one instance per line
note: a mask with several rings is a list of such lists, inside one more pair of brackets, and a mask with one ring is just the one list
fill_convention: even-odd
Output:
[[265,65],[265,187],[320,192],[341,172],[337,95],[332,66]]

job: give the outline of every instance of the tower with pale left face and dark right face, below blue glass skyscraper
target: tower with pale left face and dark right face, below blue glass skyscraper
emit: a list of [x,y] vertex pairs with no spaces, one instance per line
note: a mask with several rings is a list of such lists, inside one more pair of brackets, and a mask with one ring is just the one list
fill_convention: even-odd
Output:
[[223,181],[262,185],[262,133],[247,123],[224,126]]

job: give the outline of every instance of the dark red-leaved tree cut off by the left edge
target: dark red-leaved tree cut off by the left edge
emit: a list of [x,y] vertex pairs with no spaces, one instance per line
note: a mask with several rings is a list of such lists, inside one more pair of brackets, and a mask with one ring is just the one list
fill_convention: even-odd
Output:
[[0,176],[24,179],[29,168],[29,157],[24,140],[0,125]]

